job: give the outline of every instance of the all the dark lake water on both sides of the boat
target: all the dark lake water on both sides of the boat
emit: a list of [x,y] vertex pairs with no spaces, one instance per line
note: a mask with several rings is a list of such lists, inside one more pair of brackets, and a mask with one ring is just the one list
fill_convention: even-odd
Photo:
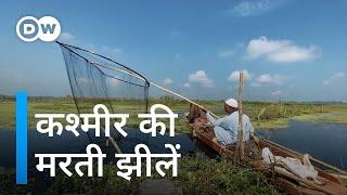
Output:
[[[336,167],[347,168],[347,126],[336,123],[316,123],[293,120],[288,128],[279,130],[259,130],[259,134],[279,144],[300,153],[326,161]],[[91,132],[91,134],[93,134]],[[128,136],[116,136],[124,153],[133,153],[134,145],[146,144],[151,153],[167,153],[166,143],[181,144],[179,151],[183,156],[196,152],[207,152],[209,156],[214,153],[202,143],[193,141],[189,134],[178,134],[175,138],[157,134],[152,138],[139,130],[129,130]],[[28,165],[34,167],[37,159],[34,154],[44,153],[86,153],[86,146],[90,140],[85,132],[79,136],[64,131],[62,135],[49,138],[37,131],[28,133]],[[113,146],[105,145],[105,138],[92,138],[92,143],[100,145],[103,153],[107,154],[105,161],[114,160],[115,151]],[[15,167],[15,131],[0,130],[0,167]]]

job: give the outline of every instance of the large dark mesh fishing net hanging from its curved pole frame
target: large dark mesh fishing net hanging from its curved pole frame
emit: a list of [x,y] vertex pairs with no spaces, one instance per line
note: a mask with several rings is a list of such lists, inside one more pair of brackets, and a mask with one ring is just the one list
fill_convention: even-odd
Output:
[[[149,108],[150,82],[142,75],[111,58],[74,46],[57,43],[63,52],[78,113],[93,113],[94,105],[103,104],[111,114],[129,114],[126,128],[137,126],[137,115],[146,113]],[[101,126],[105,128],[105,123]],[[113,128],[110,126],[113,135],[119,136],[114,134],[116,131]],[[92,140],[92,136],[89,135],[89,139]]]

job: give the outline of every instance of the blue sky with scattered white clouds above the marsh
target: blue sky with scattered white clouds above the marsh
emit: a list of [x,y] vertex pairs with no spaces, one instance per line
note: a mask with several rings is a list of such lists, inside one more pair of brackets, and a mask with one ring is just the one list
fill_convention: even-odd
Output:
[[0,94],[70,94],[54,42],[24,42],[26,15],[51,15],[60,41],[111,56],[194,99],[347,101],[347,1],[3,1]]

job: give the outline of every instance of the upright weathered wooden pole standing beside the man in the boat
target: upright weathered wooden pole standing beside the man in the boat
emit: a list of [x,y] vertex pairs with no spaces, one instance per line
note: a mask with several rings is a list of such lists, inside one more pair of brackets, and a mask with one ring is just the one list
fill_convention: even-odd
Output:
[[243,73],[240,73],[239,79],[239,129],[237,129],[237,143],[235,147],[236,161],[244,159],[244,143],[243,143],[243,110],[242,110],[242,99],[243,99]]

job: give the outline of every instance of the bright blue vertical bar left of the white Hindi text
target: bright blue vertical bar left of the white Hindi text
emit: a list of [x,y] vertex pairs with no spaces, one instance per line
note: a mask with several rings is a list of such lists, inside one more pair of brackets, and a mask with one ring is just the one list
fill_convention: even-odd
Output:
[[27,95],[17,92],[16,96],[16,183],[27,184]]

